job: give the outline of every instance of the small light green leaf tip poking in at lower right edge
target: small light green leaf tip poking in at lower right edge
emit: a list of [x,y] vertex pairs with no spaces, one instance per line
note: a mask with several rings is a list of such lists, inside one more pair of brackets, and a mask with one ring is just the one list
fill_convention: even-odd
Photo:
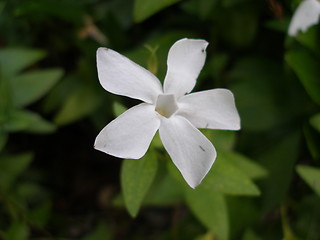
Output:
[[309,187],[320,196],[320,168],[298,165],[296,170]]

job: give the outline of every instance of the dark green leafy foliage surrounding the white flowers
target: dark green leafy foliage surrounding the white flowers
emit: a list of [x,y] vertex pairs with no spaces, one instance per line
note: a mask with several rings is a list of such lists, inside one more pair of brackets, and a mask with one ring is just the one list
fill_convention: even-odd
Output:
[[[320,238],[319,25],[292,38],[297,1],[0,1],[0,238]],[[109,94],[96,49],[163,81],[180,38],[210,44],[195,91],[229,88],[239,132],[188,187],[156,135],[140,160],[92,148],[135,105]]]

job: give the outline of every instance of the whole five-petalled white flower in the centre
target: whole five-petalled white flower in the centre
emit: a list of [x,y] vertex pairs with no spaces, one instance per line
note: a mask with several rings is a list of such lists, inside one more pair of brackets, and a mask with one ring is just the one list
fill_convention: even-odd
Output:
[[204,40],[181,39],[170,49],[162,88],[149,71],[107,48],[97,51],[98,76],[107,91],[143,103],[110,122],[95,148],[120,158],[139,159],[159,130],[161,141],[186,182],[195,188],[210,170],[216,151],[197,129],[239,130],[240,118],[229,90],[191,93],[204,65]]

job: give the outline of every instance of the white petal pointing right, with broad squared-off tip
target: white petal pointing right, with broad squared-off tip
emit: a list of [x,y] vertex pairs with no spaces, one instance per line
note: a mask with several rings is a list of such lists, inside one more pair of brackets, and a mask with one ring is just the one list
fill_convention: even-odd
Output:
[[197,128],[240,129],[234,97],[227,89],[191,93],[180,98],[178,105],[176,114],[184,116]]

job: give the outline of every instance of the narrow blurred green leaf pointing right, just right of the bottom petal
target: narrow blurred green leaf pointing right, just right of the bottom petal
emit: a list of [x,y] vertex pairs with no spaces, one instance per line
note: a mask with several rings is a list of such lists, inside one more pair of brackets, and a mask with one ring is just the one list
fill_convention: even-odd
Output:
[[224,152],[223,157],[228,159],[233,166],[244,172],[251,179],[264,178],[267,171],[251,159],[235,152]]

